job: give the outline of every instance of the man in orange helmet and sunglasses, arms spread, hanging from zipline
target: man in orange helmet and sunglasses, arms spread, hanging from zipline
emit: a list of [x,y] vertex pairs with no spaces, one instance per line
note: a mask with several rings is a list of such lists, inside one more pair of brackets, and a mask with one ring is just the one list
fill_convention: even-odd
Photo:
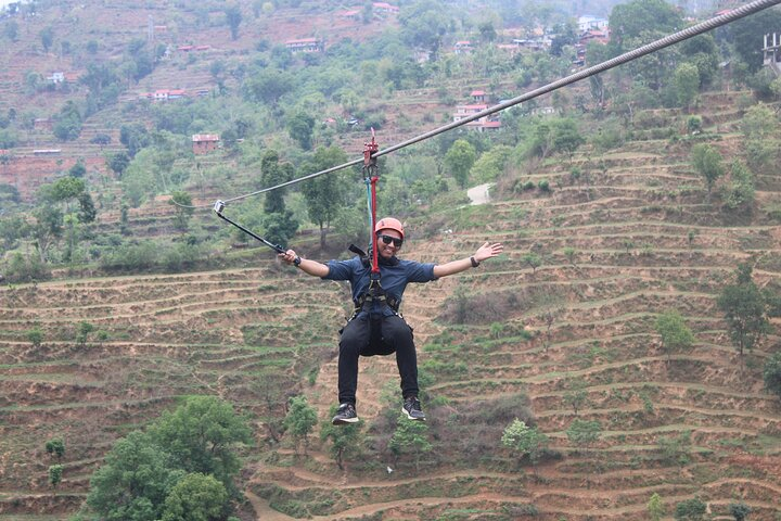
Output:
[[324,280],[348,280],[353,290],[355,313],[341,331],[338,358],[340,407],[333,424],[358,421],[356,390],[358,387],[358,357],[396,353],[401,377],[402,414],[410,420],[425,421],[418,399],[418,357],[412,328],[398,314],[404,291],[409,282],[430,282],[448,275],[476,268],[502,252],[502,244],[483,244],[474,255],[447,264],[401,260],[396,254],[405,240],[404,226],[398,219],[386,217],[377,221],[379,280],[372,280],[371,253],[348,260],[330,260],[321,264],[300,258],[293,250],[280,258],[304,272]]

